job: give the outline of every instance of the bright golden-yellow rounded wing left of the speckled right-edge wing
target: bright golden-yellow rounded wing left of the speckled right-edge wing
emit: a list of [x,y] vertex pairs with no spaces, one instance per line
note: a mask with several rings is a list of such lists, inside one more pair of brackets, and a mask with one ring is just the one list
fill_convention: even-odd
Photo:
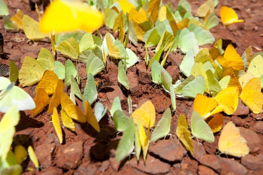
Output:
[[[214,99],[218,102],[219,107],[221,107],[226,114],[230,115],[234,113],[237,108],[238,89],[236,87],[227,87],[217,93]],[[216,108],[214,110],[216,110]],[[210,115],[215,113],[218,112],[212,111]]]

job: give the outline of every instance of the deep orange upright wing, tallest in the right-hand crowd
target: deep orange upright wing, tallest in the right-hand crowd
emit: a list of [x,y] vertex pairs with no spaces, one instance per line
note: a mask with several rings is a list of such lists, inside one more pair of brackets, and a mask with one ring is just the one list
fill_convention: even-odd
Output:
[[231,44],[227,45],[224,56],[218,56],[216,60],[224,68],[232,67],[233,70],[244,69],[242,58],[239,56],[239,54],[236,52],[235,48]]

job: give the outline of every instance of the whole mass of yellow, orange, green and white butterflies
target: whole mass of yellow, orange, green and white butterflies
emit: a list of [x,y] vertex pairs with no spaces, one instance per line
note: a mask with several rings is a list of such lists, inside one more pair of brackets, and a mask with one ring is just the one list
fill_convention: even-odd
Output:
[[[101,26],[102,14],[81,2],[55,0],[42,17],[36,8],[41,22],[24,14],[22,10],[9,18],[8,10],[3,10],[0,15],[4,15],[6,29],[22,29],[31,40],[50,36],[53,53],[59,51],[76,62],[86,62],[88,80],[82,95],[78,85],[80,76],[72,60],[68,59],[64,65],[60,61],[54,61],[50,51],[42,48],[37,59],[25,57],[20,71],[14,61],[10,62],[10,79],[0,77],[0,111],[7,112],[15,104],[18,110],[33,109],[32,115],[37,115],[49,105],[48,112],[52,113],[52,121],[61,143],[63,133],[57,110],[59,104],[62,107],[61,119],[67,128],[75,130],[74,119],[88,122],[100,131],[98,122],[107,108],[99,102],[94,106],[95,113],[91,108],[98,96],[94,75],[106,67],[107,56],[121,59],[118,63],[118,80],[129,89],[126,71],[138,58],[132,50],[125,47],[128,39],[136,46],[138,41],[143,41],[146,66],[151,67],[153,82],[162,84],[170,92],[172,109],[176,108],[175,95],[195,98],[191,132],[183,115],[179,116],[176,129],[178,138],[193,153],[191,133],[197,138],[213,142],[213,132],[222,127],[223,116],[219,112],[232,114],[237,108],[239,92],[240,99],[254,113],[259,113],[263,104],[260,87],[263,84],[263,58],[260,52],[253,55],[251,47],[248,47],[241,58],[232,45],[228,45],[224,51],[221,39],[216,41],[213,48],[199,51],[200,45],[214,42],[209,29],[218,24],[218,18],[214,14],[217,3],[217,0],[203,3],[197,9],[196,15],[203,17],[199,19],[192,15],[191,6],[186,0],[179,1],[175,12],[172,12],[169,5],[162,5],[161,0],[118,0],[114,3],[98,0],[94,5],[103,11],[106,26],[119,31],[119,39],[115,39],[110,33],[106,33],[104,39],[83,31],[58,33],[76,29],[90,32]],[[226,6],[221,7],[220,16],[225,26],[243,21],[238,19],[233,9]],[[87,21],[87,18],[91,20]],[[149,61],[148,47],[152,46],[156,46],[155,55]],[[187,78],[172,84],[172,78],[163,66],[168,53],[177,48],[186,53],[180,70]],[[3,52],[3,44],[1,51]],[[166,55],[159,63],[163,52]],[[1,69],[1,72],[4,71]],[[18,77],[22,86],[38,83],[34,100],[15,85]],[[66,86],[71,86],[70,96],[64,92],[64,79]],[[204,93],[213,97],[206,97],[202,95]],[[75,95],[84,101],[85,114],[76,105]],[[145,160],[149,143],[170,132],[171,111],[168,108],[164,112],[150,138],[150,128],[155,122],[154,105],[151,101],[146,101],[132,112],[131,98],[128,99],[131,117],[122,112],[118,98],[115,98],[110,110],[116,129],[124,132],[117,147],[116,159],[123,160],[133,151],[135,145],[137,159],[142,150]],[[14,128],[16,124],[10,127]],[[148,128],[147,132],[144,128]],[[10,134],[13,136],[14,133]],[[222,129],[218,149],[226,154],[243,156],[249,152],[245,142],[238,128],[229,122]],[[240,149],[237,149],[239,145]],[[10,145],[7,147],[10,148]]]

